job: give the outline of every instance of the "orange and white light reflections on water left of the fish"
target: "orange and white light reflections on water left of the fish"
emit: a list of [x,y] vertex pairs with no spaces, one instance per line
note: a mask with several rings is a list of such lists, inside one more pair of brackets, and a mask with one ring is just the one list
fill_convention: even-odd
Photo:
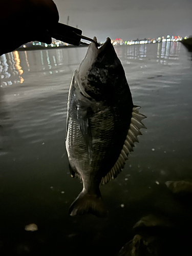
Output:
[[[82,49],[84,53],[87,49]],[[73,54],[71,54],[73,52]],[[41,50],[38,54],[34,51],[14,51],[0,56],[1,87],[15,83],[23,83],[23,72],[27,74],[30,70],[42,72],[42,75],[55,73],[71,73],[73,67],[79,65],[83,54],[77,49],[57,49],[57,51]],[[22,59],[22,66],[20,66]],[[62,68],[61,68],[62,67]]]

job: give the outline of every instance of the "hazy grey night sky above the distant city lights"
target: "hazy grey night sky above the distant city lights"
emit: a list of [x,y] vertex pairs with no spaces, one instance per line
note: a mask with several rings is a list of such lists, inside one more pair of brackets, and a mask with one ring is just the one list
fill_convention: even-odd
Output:
[[192,34],[192,0],[54,0],[59,22],[83,35],[124,40]]

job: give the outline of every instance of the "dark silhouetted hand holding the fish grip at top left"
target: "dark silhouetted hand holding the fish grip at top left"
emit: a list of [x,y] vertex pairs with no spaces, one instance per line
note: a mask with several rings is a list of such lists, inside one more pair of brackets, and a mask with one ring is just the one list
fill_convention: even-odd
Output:
[[57,7],[52,0],[1,0],[0,55],[29,41],[51,44],[48,30],[58,20]]

